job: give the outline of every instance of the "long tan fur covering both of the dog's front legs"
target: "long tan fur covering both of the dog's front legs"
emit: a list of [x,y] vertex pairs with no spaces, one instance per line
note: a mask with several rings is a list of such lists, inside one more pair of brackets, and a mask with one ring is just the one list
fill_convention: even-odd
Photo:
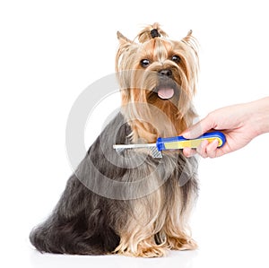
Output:
[[[132,214],[124,228],[118,230],[120,244],[115,253],[130,256],[163,256],[169,249],[195,249],[195,241],[190,237],[187,220],[194,200],[188,200],[187,211],[181,212],[180,186],[173,184],[174,193],[169,203],[164,203],[164,187],[146,197],[133,202]],[[159,244],[154,236],[159,234]]]

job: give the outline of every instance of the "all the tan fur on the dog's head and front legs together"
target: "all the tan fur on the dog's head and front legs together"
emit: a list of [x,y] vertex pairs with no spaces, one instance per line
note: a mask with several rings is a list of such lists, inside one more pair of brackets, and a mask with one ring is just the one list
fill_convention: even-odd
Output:
[[[152,39],[152,29],[157,29],[161,38]],[[122,114],[132,128],[133,143],[154,143],[160,136],[181,134],[192,125],[195,112],[191,100],[196,90],[199,64],[195,39],[191,34],[192,31],[189,31],[187,37],[180,41],[170,40],[158,23],[145,27],[137,35],[138,42],[117,33],[116,70]],[[179,64],[171,60],[175,55],[180,56]],[[151,64],[143,68],[140,65],[142,59],[150,60]],[[157,73],[168,68],[174,73],[180,95],[163,100],[152,95],[152,91],[157,85]],[[177,153],[167,152],[171,170],[177,165]],[[161,179],[157,177],[156,181]],[[168,202],[165,195],[169,188],[173,189],[173,193],[170,193]],[[152,257],[165,255],[168,249],[195,249],[187,226],[195,198],[184,200],[182,193],[178,181],[172,180],[152,194],[134,200],[126,225],[117,230],[120,244],[115,253]],[[187,203],[185,210],[182,210],[183,203]]]

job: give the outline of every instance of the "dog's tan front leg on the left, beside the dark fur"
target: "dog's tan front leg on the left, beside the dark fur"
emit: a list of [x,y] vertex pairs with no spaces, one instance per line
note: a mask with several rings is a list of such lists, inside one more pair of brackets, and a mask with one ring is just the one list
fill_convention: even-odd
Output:
[[[118,231],[120,242],[115,253],[140,257],[159,257],[165,255],[168,247],[157,243],[154,236],[164,222],[161,213],[161,190],[132,202],[126,226]],[[162,220],[161,220],[162,219]]]

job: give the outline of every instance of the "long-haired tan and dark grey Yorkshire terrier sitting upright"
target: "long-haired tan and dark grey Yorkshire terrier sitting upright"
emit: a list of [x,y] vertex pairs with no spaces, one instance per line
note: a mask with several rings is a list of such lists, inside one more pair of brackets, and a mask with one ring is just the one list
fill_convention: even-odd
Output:
[[156,257],[196,248],[188,227],[198,193],[195,158],[180,150],[154,159],[146,149],[113,149],[155,143],[193,124],[196,40],[192,31],[171,40],[159,23],[134,41],[120,32],[117,39],[120,111],[92,143],[48,220],[30,232],[40,252]]

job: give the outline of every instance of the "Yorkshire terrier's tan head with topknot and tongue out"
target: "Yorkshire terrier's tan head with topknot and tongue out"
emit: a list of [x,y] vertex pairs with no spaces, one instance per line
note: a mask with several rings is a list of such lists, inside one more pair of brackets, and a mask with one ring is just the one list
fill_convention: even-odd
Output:
[[120,32],[117,38],[116,71],[123,114],[134,139],[152,142],[158,136],[182,132],[194,117],[191,99],[198,56],[192,31],[180,41],[170,40],[154,23],[138,34],[138,42]]

